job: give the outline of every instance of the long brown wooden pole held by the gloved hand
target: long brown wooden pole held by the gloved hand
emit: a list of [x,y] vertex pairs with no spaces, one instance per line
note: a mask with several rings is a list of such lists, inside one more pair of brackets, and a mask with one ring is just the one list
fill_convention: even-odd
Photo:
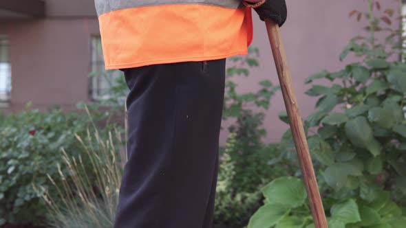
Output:
[[266,30],[268,30],[273,58],[275,59],[279,82],[281,84],[282,94],[284,95],[284,102],[290,122],[290,130],[292,130],[293,139],[295,140],[296,152],[299,157],[301,172],[308,192],[314,225],[317,228],[328,228],[319,186],[317,185],[316,175],[314,174],[312,158],[310,157],[308,141],[306,139],[303,122],[301,121],[301,115],[297,106],[296,94],[292,85],[292,78],[290,76],[288,60],[286,59],[284,44],[281,41],[279,25],[271,19],[266,19],[265,23]]

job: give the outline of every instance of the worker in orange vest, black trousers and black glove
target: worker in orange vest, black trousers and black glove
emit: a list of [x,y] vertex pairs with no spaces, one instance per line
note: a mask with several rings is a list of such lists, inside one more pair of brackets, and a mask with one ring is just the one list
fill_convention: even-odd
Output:
[[251,8],[284,0],[95,0],[106,69],[130,89],[115,228],[213,224],[226,58],[247,54]]

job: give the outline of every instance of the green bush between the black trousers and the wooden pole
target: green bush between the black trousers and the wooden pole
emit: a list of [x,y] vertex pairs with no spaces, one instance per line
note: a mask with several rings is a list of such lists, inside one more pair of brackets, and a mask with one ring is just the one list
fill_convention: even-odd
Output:
[[[276,145],[266,145],[264,113],[251,109],[268,109],[270,98],[279,89],[264,80],[257,93],[237,93],[234,76],[249,76],[249,67],[258,65],[258,49],[250,48],[248,56],[232,58],[227,69],[224,118],[234,118],[225,148],[221,148],[215,204],[215,223],[225,227],[243,227],[249,216],[261,205],[259,187],[276,176],[290,174],[292,168]],[[277,166],[275,166],[277,164]]]

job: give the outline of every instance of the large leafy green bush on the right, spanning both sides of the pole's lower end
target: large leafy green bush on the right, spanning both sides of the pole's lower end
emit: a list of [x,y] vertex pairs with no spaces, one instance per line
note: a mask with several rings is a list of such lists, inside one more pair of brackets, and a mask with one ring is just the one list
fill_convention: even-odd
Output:
[[[332,82],[313,84],[307,92],[320,98],[305,121],[330,228],[406,225],[406,64],[392,60],[402,53],[403,39],[400,30],[382,25],[391,24],[394,10],[374,19],[373,5],[381,9],[378,1],[369,1],[370,36],[354,38],[341,54],[363,60],[306,80]],[[389,32],[385,43],[376,42],[376,31]],[[262,192],[265,205],[248,227],[314,227],[301,180],[277,179]]]

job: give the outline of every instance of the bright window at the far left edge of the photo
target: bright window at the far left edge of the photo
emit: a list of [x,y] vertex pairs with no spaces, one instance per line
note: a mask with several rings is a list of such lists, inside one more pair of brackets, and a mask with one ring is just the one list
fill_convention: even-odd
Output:
[[7,36],[0,35],[0,105],[10,102],[11,65]]

